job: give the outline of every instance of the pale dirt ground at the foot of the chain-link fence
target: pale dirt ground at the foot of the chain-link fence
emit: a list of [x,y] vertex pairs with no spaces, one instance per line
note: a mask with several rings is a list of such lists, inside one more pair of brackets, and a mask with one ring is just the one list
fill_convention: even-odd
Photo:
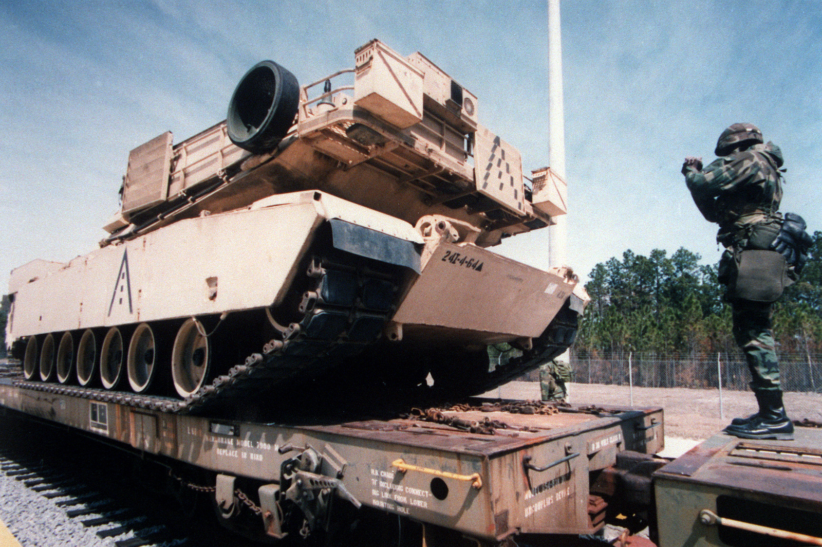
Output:
[[[627,386],[571,383],[570,402],[577,405],[600,404],[630,406],[631,390]],[[488,396],[510,399],[538,399],[538,382],[510,382]],[[783,400],[792,420],[822,423],[822,393],[785,393]],[[719,392],[716,389],[684,387],[634,387],[633,406],[662,406],[665,411],[666,437],[705,439],[721,431],[732,418],[756,411],[751,392],[723,390],[720,416]]]

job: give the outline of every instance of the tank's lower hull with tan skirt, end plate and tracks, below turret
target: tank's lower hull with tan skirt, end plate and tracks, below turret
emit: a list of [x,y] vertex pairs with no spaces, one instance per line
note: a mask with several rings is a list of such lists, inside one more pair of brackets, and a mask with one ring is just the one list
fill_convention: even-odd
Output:
[[[318,191],[267,197],[241,210],[179,220],[27,282],[12,272],[9,339],[25,343],[27,377],[36,380],[39,367],[46,381],[53,379],[54,360],[44,349],[48,340],[95,334],[103,341],[97,360],[107,389],[118,387],[126,375],[121,369],[128,368],[136,392],[148,389],[149,371],[173,370],[178,394],[188,397],[254,353],[266,353],[268,380],[259,382],[257,370],[231,378],[257,390],[315,378],[354,355],[360,364],[349,366],[359,366],[363,378],[386,378],[390,368],[382,358],[395,347],[404,355],[438,355],[426,368],[407,359],[413,373],[395,364],[407,387],[431,372],[450,378],[439,387],[478,391],[488,387],[486,345],[528,348],[563,306],[583,299],[573,296],[575,280],[563,271],[457,243],[450,226],[436,217],[415,227]],[[31,267],[21,272],[32,275]],[[138,335],[145,340],[132,343]],[[567,347],[571,340],[552,343]],[[215,347],[230,351],[215,354]],[[82,352],[78,363],[89,360],[88,348]],[[539,355],[523,366],[536,366]],[[89,366],[75,378],[72,359],[58,360],[59,382],[90,382]],[[186,367],[199,372],[181,383]],[[139,378],[132,378],[134,370]],[[504,379],[496,373],[492,385]]]

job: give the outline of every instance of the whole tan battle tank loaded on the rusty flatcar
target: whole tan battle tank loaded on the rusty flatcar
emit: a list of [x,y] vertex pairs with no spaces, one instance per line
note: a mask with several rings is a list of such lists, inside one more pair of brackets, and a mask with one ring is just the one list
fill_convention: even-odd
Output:
[[[12,271],[25,378],[191,408],[321,378],[470,395],[560,355],[587,302],[577,278],[487,247],[551,225],[565,183],[548,168],[524,183],[481,112],[379,40],[307,86],[258,63],[226,121],[131,152],[98,250]],[[502,342],[522,355],[489,364]]]

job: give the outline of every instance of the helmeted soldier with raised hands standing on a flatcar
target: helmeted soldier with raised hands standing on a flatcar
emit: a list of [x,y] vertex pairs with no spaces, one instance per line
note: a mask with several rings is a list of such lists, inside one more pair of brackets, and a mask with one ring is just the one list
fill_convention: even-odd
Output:
[[717,241],[726,248],[719,282],[726,285],[733,336],[745,353],[750,388],[759,404],[758,412],[734,419],[725,432],[741,438],[792,439],[774,348],[773,302],[797,279],[810,236],[800,216],[778,212],[783,155],[774,143],[764,144],[758,127],[727,127],[714,153],[718,159],[704,169],[700,158],[686,158],[682,174],[702,215],[719,225]]

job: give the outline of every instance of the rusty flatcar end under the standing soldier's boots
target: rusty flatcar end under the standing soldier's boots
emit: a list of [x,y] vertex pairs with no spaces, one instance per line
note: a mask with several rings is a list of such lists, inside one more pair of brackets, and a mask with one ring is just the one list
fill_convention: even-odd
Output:
[[[746,440],[719,434],[653,475],[659,545],[761,545],[766,535],[732,531],[700,520],[705,511],[818,535],[822,517],[822,431],[797,428],[795,440]],[[792,516],[802,515],[799,521]],[[740,519],[730,516],[732,519]],[[810,522],[810,527],[802,522]]]

